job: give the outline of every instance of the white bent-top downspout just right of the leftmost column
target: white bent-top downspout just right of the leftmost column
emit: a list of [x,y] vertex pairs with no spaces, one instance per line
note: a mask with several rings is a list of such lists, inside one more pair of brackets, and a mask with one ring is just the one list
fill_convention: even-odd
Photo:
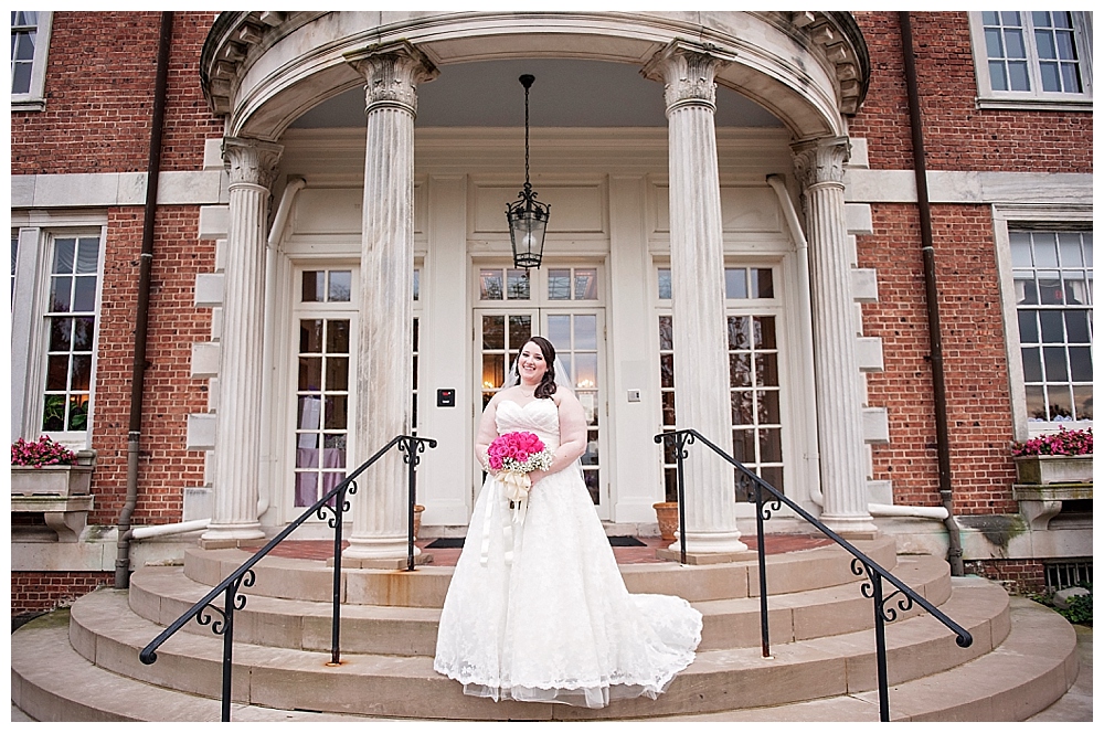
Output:
[[288,179],[280,196],[279,206],[276,209],[276,216],[273,219],[273,227],[268,232],[268,246],[265,251],[265,322],[264,322],[264,350],[261,357],[261,373],[264,379],[261,382],[261,480],[258,481],[261,491],[257,497],[257,519],[268,511],[272,506],[273,486],[273,464],[276,460],[272,449],[272,372],[273,353],[276,348],[276,255],[279,253],[279,243],[284,238],[284,230],[287,226],[287,219],[291,213],[291,204],[295,202],[295,194],[307,185],[307,181],[301,177]]

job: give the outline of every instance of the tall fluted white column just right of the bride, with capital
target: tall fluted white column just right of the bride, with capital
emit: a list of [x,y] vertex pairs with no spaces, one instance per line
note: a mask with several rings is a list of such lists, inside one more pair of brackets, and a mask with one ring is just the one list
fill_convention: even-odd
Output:
[[[714,75],[732,56],[672,41],[643,73],[664,83],[670,177],[676,425],[732,450]],[[741,552],[733,469],[702,445],[686,465],[688,552]]]

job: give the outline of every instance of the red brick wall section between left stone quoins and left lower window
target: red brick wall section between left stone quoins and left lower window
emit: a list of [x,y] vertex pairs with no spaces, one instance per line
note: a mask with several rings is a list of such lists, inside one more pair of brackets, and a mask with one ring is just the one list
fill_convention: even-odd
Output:
[[[214,269],[214,243],[197,240],[198,223],[194,206],[160,206],[157,212],[137,523],[180,521],[183,488],[203,484],[203,453],[184,449],[188,415],[208,408],[206,380],[192,379],[190,371],[192,343],[211,338],[211,310],[193,304],[195,275]],[[110,212],[94,407],[92,523],[118,521],[126,498],[141,227],[140,209]]]

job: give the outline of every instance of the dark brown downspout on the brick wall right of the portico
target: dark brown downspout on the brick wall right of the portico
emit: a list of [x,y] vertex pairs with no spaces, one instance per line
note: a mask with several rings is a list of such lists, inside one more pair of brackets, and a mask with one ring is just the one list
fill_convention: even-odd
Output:
[[920,113],[920,91],[916,83],[916,55],[912,39],[912,21],[907,11],[900,11],[901,47],[904,52],[904,74],[909,88],[909,117],[912,125],[913,168],[916,171],[916,205],[920,209],[920,237],[924,255],[924,294],[927,301],[927,334],[931,347],[932,391],[935,397],[935,439],[940,464],[940,498],[947,510],[943,520],[951,546],[947,562],[952,575],[964,575],[962,535],[955,522],[951,491],[951,439],[947,431],[947,392],[943,372],[943,338],[940,328],[940,293],[935,279],[935,245],[932,236],[932,203],[927,192],[927,160],[924,151],[924,126]]

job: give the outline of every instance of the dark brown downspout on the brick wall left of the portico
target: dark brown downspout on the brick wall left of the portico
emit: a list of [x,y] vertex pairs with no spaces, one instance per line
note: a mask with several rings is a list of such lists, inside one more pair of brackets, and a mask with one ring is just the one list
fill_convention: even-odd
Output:
[[130,379],[130,424],[127,428],[127,496],[118,521],[115,587],[130,586],[130,518],[138,504],[138,458],[141,444],[142,391],[146,386],[146,337],[149,322],[149,289],[153,269],[153,223],[157,184],[161,174],[161,134],[164,126],[166,89],[169,84],[169,51],[172,47],[172,12],[161,13],[157,42],[157,81],[149,134],[146,172],[146,210],[142,219],[141,255],[138,265],[138,307],[135,314],[135,357]]

